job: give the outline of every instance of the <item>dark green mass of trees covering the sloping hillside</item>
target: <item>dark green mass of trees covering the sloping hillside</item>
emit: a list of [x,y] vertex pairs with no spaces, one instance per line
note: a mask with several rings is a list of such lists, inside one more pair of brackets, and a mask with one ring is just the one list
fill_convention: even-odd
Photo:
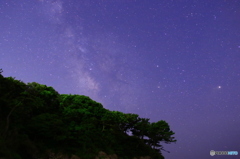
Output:
[[48,158],[49,151],[94,158],[161,159],[161,142],[172,143],[165,121],[105,109],[83,95],[59,94],[36,82],[3,77],[0,69],[0,158]]

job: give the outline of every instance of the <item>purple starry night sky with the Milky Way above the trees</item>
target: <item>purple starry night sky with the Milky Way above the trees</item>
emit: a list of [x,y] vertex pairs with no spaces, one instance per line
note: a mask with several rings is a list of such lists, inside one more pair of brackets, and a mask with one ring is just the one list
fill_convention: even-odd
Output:
[[165,120],[166,158],[240,153],[240,1],[0,0],[4,76]]

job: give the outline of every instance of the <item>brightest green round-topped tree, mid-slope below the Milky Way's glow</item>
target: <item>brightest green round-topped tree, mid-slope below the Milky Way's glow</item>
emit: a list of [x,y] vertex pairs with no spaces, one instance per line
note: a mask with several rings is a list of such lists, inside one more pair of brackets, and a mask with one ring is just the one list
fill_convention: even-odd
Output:
[[100,103],[82,95],[60,95],[61,116],[68,135],[65,141],[88,149],[101,139],[101,118],[105,109]]

